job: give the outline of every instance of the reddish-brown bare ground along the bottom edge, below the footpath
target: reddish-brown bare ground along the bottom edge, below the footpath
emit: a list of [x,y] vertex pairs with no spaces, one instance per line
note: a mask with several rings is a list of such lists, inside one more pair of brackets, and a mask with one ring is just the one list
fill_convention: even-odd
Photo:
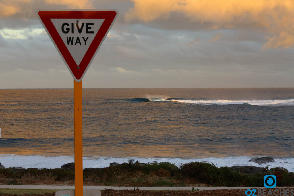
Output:
[[[274,191],[274,188],[271,189]],[[269,190],[269,189],[266,189]],[[285,190],[279,189],[279,191]],[[113,190],[107,189],[101,191],[102,196],[244,196],[244,189],[223,189],[223,190],[202,190],[202,191],[148,191],[148,190]],[[1,196],[55,196],[55,193],[44,193],[44,194],[23,194],[23,195],[10,195],[10,194],[2,194]]]

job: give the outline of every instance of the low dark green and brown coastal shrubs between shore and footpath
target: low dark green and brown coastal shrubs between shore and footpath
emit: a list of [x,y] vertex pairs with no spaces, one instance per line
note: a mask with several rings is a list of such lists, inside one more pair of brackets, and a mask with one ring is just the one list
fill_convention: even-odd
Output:
[[[179,166],[173,163],[141,164],[129,160],[110,167],[83,172],[84,183],[106,186],[209,186],[263,187],[263,177],[275,175],[277,186],[293,186],[294,173],[282,167],[263,168],[255,174],[243,174],[228,167],[210,163],[192,162]],[[73,182],[74,171],[66,169],[26,169],[14,172],[12,168],[0,169],[1,184],[40,184],[46,182]]]

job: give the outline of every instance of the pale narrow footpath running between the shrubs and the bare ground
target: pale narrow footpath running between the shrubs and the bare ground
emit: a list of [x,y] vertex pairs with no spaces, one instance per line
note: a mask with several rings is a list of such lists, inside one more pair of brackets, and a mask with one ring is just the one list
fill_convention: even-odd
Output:
[[[9,189],[44,189],[44,190],[74,190],[74,186],[56,185],[0,185],[0,188]],[[193,187],[135,187],[139,190],[192,190]],[[264,189],[265,187],[194,187],[194,190],[219,190],[219,189]],[[278,187],[286,188],[286,187]],[[294,188],[294,187],[287,187]],[[133,190],[134,187],[112,187],[112,186],[83,186],[84,190],[92,189],[114,189],[114,190]]]

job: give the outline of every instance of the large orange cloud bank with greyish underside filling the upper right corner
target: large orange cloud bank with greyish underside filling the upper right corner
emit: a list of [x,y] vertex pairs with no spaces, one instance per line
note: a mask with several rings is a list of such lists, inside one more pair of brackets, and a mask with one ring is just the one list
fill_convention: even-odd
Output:
[[[289,48],[294,44],[292,0],[132,0],[125,21],[161,28],[263,29],[263,48]],[[178,22],[177,22],[178,21]],[[250,31],[248,32],[250,33]]]

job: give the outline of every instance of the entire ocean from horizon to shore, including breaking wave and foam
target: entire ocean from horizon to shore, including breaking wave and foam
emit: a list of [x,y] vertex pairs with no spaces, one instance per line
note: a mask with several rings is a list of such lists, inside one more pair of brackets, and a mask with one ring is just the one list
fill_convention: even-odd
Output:
[[[294,88],[83,89],[83,168],[133,158],[294,171]],[[74,162],[73,89],[0,89],[0,163]],[[253,157],[275,163],[258,165]]]

